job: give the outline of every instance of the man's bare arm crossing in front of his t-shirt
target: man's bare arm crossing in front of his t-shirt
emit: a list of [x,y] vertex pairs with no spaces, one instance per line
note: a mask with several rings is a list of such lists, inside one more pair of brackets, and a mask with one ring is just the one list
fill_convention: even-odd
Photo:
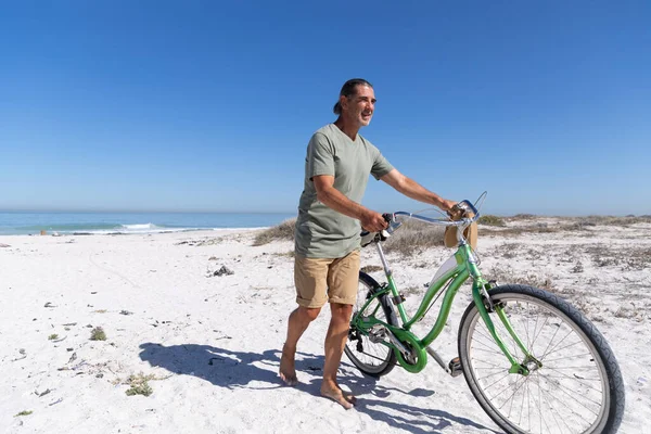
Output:
[[317,199],[326,206],[342,213],[348,217],[358,219],[361,227],[370,232],[379,232],[386,229],[386,221],[382,214],[366,208],[357,202],[350,201],[341,191],[334,188],[334,177],[319,175],[312,178]]

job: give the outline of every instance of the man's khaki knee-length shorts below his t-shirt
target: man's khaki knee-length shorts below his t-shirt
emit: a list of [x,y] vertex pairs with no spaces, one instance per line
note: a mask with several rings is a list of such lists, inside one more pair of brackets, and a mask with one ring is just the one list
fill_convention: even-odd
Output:
[[296,255],[294,283],[296,303],[322,307],[326,303],[354,305],[359,286],[359,251],[343,258],[322,259]]

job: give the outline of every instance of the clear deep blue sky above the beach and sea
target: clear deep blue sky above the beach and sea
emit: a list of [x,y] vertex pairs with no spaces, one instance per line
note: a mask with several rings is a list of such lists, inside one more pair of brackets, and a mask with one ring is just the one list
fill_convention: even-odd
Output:
[[[651,214],[651,2],[14,1],[0,208],[296,209],[341,85],[361,130],[492,214]],[[369,182],[378,210],[422,204]]]

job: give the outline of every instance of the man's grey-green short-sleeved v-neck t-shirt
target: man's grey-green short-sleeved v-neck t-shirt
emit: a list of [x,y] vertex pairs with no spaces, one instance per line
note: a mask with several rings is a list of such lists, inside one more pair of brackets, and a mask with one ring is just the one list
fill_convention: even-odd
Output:
[[369,174],[375,179],[393,170],[378,148],[357,135],[350,140],[334,124],[319,129],[307,145],[305,187],[298,203],[296,254],[315,258],[340,258],[359,248],[359,220],[345,216],[317,200],[311,180],[318,175],[334,177],[334,188],[361,203]]

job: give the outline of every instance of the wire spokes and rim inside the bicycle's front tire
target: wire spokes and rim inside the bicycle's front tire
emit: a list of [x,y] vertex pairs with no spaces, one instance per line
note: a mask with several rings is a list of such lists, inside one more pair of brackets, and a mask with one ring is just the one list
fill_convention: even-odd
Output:
[[[501,362],[506,361],[501,348],[476,311],[470,326],[464,326],[470,330],[465,353],[460,350],[467,379],[475,385],[473,393],[494,420],[508,421],[508,425],[500,422],[500,426],[509,426],[508,432],[600,432],[608,414],[608,383],[593,341],[572,317],[559,315],[553,303],[547,305],[518,291],[496,299],[505,306],[515,334],[511,335],[501,319],[494,321],[495,332],[515,360],[526,362],[529,373],[509,372],[510,363]],[[525,357],[516,339],[540,366]],[[471,367],[468,371],[467,365]]]

